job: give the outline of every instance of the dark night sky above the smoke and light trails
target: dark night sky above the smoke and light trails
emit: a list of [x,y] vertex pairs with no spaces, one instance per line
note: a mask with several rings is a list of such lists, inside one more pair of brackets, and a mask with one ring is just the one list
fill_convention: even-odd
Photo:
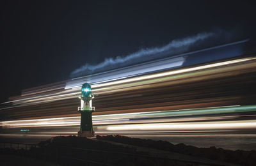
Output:
[[250,1],[81,2],[1,3],[0,102],[21,89],[66,80],[85,63],[203,31],[255,36],[255,4]]

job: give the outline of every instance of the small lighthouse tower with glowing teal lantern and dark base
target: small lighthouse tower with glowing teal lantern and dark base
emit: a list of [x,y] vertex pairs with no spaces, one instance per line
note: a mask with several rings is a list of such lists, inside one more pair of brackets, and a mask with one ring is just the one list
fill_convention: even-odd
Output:
[[81,100],[81,107],[78,107],[78,111],[81,113],[81,124],[78,132],[79,137],[93,137],[94,131],[92,126],[92,112],[95,107],[92,107],[92,100],[94,95],[92,94],[92,88],[90,84],[84,83],[79,94]]

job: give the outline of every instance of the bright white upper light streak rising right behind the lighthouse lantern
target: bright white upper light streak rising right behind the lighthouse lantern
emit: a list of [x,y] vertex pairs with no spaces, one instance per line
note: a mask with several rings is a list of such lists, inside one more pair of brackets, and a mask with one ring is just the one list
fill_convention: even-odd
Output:
[[[118,89],[119,87],[116,86],[116,87],[109,88],[108,86],[115,86],[118,84],[128,84],[128,83],[131,84],[132,82],[141,82],[140,84],[142,84],[143,80],[145,81],[145,80],[150,80],[150,79],[157,79],[160,77],[161,78],[162,77],[170,77],[172,75],[196,72],[198,70],[206,70],[206,69],[216,68],[216,67],[220,67],[220,66],[226,66],[226,65],[230,65],[230,64],[242,63],[242,62],[251,61],[254,59],[256,59],[256,57],[246,57],[243,59],[236,59],[236,60],[232,60],[232,61],[224,61],[221,63],[207,64],[207,65],[197,66],[197,67],[193,67],[193,68],[183,68],[180,70],[171,70],[169,72],[149,74],[149,75],[140,76],[140,77],[127,78],[124,80],[115,80],[115,81],[105,82],[105,83],[102,82],[101,84],[97,84],[97,82],[96,82],[95,84],[92,84],[92,91],[95,93],[102,93],[102,91],[107,91],[108,93],[112,93],[112,92],[116,91],[116,90],[113,91],[113,88]],[[161,81],[161,80],[155,80],[155,81]],[[147,82],[145,82],[145,83],[147,83]],[[145,83],[143,83],[143,84],[145,84]],[[151,84],[154,82],[150,81],[148,83]],[[81,84],[83,84],[83,82],[81,82]],[[129,89],[129,87],[127,87],[127,85],[124,85],[124,87],[126,89]],[[41,96],[22,98],[22,99],[13,100],[10,102],[5,102],[5,103],[13,103],[13,106],[10,106],[10,107],[20,107],[22,105],[33,105],[35,103],[45,103],[45,102],[54,102],[54,101],[58,101],[58,100],[66,100],[66,99],[70,99],[70,98],[76,98],[77,97],[76,94],[79,93],[79,90],[80,89],[68,89],[68,90],[65,90],[62,92],[58,92],[58,93],[44,94]],[[17,105],[17,106],[15,106],[15,105]]]

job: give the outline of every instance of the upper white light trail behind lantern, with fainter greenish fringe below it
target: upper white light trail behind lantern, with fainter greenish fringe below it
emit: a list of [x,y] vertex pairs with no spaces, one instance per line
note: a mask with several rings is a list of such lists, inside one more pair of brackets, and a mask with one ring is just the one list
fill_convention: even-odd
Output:
[[[244,63],[246,61],[252,61],[255,63],[253,60],[255,60],[256,57],[246,57],[242,59],[236,59],[232,61],[225,61],[221,63],[212,63],[212,64],[207,64],[207,65],[202,65],[202,66],[196,66],[193,68],[185,68],[185,69],[180,69],[180,70],[172,70],[170,72],[161,72],[161,73],[156,73],[156,74],[150,74],[150,75],[145,75],[141,77],[134,77],[134,78],[128,78],[128,79],[123,79],[123,80],[114,80],[111,82],[106,82],[102,84],[92,84],[92,91],[93,93],[98,93],[98,94],[104,94],[104,93],[115,93],[117,91],[120,91],[120,88],[125,88],[129,89],[130,88],[136,88],[134,86],[146,86],[148,84],[154,84],[154,83],[159,83],[164,82],[170,79],[175,79],[175,77],[172,77],[174,75],[179,75],[179,77],[186,77],[188,79],[189,77],[195,77],[195,74],[200,74],[200,71],[205,70],[205,72],[211,73],[209,71],[212,69],[212,73],[216,72],[218,70],[218,67],[223,67],[223,66],[229,66],[231,64],[237,64],[237,63]],[[241,64],[243,65],[243,64]],[[250,67],[250,66],[248,66]],[[214,68],[217,68],[214,70]],[[230,69],[229,69],[230,70]],[[194,72],[194,73],[191,73]],[[223,71],[222,71],[223,72]],[[184,73],[188,73],[187,75],[182,75]],[[191,76],[189,76],[191,75]],[[159,79],[161,78],[161,79]],[[180,82],[181,83],[181,82]],[[83,84],[83,82],[80,82],[80,84]],[[110,87],[109,87],[110,86]],[[45,102],[54,102],[58,100],[65,100],[65,99],[70,99],[70,98],[76,98],[76,94],[79,93],[79,89],[68,89],[66,91],[58,92],[58,93],[52,93],[52,94],[47,94],[43,96],[35,96],[32,98],[24,98],[20,100],[13,100],[10,102],[5,102],[5,103],[13,103],[13,105],[31,105],[35,103],[45,103]]]

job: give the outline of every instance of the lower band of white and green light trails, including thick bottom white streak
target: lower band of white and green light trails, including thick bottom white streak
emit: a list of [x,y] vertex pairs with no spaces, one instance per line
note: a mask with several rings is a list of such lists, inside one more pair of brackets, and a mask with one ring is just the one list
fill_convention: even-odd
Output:
[[[211,114],[221,115],[223,113],[239,113],[239,112],[255,112],[256,105],[248,106],[233,106],[228,107],[214,107],[205,109],[193,109],[193,110],[170,110],[170,111],[157,111],[157,112],[136,112],[127,114],[108,114],[93,116],[93,125],[96,128],[101,128],[100,131],[126,131],[132,130],[131,132],[136,132],[137,130],[147,131],[147,130],[212,130],[212,129],[222,129],[230,130],[236,129],[240,130],[242,127],[244,129],[255,128],[255,122],[252,120],[247,121],[225,121],[223,119],[233,119],[239,118],[241,116],[214,116],[207,117]],[[195,116],[204,117],[195,117]],[[187,117],[184,117],[187,116]],[[161,117],[161,119],[157,119]],[[180,117],[179,119],[173,117]],[[252,116],[248,116],[252,117]],[[165,118],[165,119],[163,119]],[[179,121],[189,121],[187,123],[164,123],[164,122],[179,122]],[[192,123],[193,121],[202,121]],[[209,123],[208,121],[212,121]],[[141,124],[138,124],[141,123]],[[2,128],[29,128],[29,127],[57,127],[57,126],[79,126],[80,117],[58,117],[58,118],[45,118],[45,119],[29,119],[29,120],[17,120],[17,121],[2,121],[0,126]],[[110,124],[115,124],[115,126],[109,126]],[[116,125],[119,124],[119,125]],[[122,126],[120,126],[122,124]],[[179,124],[179,125],[178,125]],[[103,126],[102,126],[103,125]],[[98,127],[99,126],[99,127]],[[236,128],[237,126],[237,128]]]

